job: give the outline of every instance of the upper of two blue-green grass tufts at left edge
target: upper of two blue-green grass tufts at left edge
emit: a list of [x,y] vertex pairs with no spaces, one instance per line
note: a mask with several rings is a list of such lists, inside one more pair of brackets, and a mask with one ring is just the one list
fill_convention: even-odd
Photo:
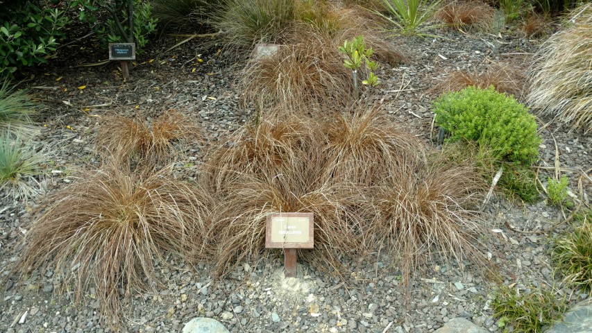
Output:
[[35,103],[26,91],[13,90],[9,85],[5,80],[0,86],[0,129],[30,137],[36,133],[30,118],[35,114]]

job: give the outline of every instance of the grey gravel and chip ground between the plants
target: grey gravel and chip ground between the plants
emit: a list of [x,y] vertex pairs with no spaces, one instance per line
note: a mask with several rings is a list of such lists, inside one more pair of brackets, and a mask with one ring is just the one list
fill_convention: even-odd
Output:
[[[506,30],[500,35],[451,31],[442,35],[446,38],[393,40],[409,52],[412,60],[397,68],[382,68],[380,92],[369,97],[382,103],[390,119],[429,144],[433,144],[435,134],[430,111],[430,103],[437,96],[434,83],[455,69],[482,71],[492,62],[528,65],[541,42]],[[81,64],[67,56],[54,62],[54,67],[33,73],[35,77],[26,85],[37,87],[33,88],[35,97],[46,107],[39,119],[44,128],[35,140],[48,155],[48,173],[42,180],[46,191],[67,186],[76,169],[99,165],[92,142],[102,117],[112,112],[154,117],[162,110],[176,108],[202,123],[208,140],[190,146],[177,163],[179,171],[189,176],[193,176],[192,165],[202,159],[205,148],[248,121],[250,112],[241,107],[237,85],[244,64],[242,56],[219,52],[216,47],[204,48],[194,41],[161,53],[175,43],[167,42],[139,56],[131,72],[133,80],[128,83],[119,78],[115,63],[70,67]],[[202,63],[194,58],[198,54]],[[91,59],[96,62],[100,58]],[[78,89],[83,85],[85,89]],[[538,121],[544,128],[541,181],[546,183],[554,172],[557,147],[570,188],[591,194],[592,182],[582,177],[582,170],[589,170],[592,164],[592,135],[570,132],[552,119]],[[21,241],[31,225],[31,212],[41,200],[42,196],[29,203],[6,198],[0,202],[2,278],[8,275],[7,266],[19,256]],[[566,226],[536,234],[508,228],[546,230],[563,219],[557,207],[545,200],[523,205],[493,198],[484,212],[490,231],[484,237],[491,240],[491,248],[482,250],[500,268],[504,283],[525,287],[558,283],[550,266],[548,239]],[[373,257],[346,263],[352,271],[341,280],[307,266],[298,267],[300,278],[284,279],[279,255],[257,265],[239,266],[219,280],[212,280],[209,266],[173,262],[176,268],[160,270],[160,278],[167,281],[164,287],[133,298],[120,330],[179,332],[183,323],[195,316],[216,318],[231,332],[380,333],[388,325],[387,332],[432,332],[456,317],[496,330],[488,307],[496,283],[484,278],[477,267],[428,261],[421,267],[421,278],[403,290],[400,272],[388,262],[389,258]],[[15,287],[8,280],[0,298],[0,331],[110,332],[99,324],[92,295],[85,296],[84,307],[75,309],[67,298],[53,294],[53,286],[51,271],[42,276],[33,274],[24,287]],[[567,288],[561,292],[574,302],[586,298]],[[24,323],[19,323],[21,319]]]

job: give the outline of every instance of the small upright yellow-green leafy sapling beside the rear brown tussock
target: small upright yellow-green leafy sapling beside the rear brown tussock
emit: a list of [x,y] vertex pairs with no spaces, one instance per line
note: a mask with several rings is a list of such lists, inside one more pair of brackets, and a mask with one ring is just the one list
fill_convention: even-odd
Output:
[[362,80],[362,84],[371,85],[375,87],[378,85],[378,76],[372,71],[378,67],[378,63],[370,60],[372,53],[374,52],[371,47],[366,48],[364,43],[364,36],[353,37],[352,40],[346,40],[343,46],[339,46],[339,52],[346,55],[344,60],[344,66],[351,69],[353,76],[353,88],[355,99],[358,99],[358,87],[357,87],[357,69],[362,67],[362,64],[366,65],[366,69],[369,70],[368,78]]

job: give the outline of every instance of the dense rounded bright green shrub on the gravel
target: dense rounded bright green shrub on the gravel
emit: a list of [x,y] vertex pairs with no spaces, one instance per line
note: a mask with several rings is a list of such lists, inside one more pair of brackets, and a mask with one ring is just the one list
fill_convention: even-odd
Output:
[[436,123],[452,135],[488,146],[498,160],[530,165],[537,160],[541,138],[528,109],[514,97],[489,87],[466,87],[434,102]]

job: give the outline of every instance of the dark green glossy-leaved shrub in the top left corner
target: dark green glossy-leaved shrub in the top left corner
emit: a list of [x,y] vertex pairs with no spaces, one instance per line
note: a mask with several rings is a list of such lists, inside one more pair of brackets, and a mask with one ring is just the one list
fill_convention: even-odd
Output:
[[0,10],[0,76],[12,76],[21,67],[47,62],[56,51],[69,23],[65,6],[46,1],[10,1]]

